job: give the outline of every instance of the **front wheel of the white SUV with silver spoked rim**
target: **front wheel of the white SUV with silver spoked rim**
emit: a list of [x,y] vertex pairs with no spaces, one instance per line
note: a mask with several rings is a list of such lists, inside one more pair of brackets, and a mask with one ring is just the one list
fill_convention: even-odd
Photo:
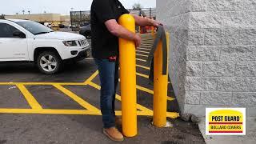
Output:
[[45,51],[38,55],[37,66],[44,74],[56,74],[62,69],[62,58],[54,51]]

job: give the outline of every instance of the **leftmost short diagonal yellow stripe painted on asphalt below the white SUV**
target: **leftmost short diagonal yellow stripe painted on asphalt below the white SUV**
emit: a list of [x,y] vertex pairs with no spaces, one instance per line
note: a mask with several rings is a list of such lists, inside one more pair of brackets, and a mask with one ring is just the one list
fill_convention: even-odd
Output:
[[19,90],[21,90],[22,94],[26,98],[26,101],[29,103],[32,109],[42,109],[42,106],[38,103],[38,101],[30,94],[29,90],[26,90],[26,87],[22,84],[16,85]]

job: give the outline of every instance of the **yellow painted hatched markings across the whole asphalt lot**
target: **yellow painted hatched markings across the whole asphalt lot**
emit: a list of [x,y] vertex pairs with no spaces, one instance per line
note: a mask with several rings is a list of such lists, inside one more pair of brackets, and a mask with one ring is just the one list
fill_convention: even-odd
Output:
[[[150,50],[150,43],[153,39],[146,40],[146,45],[142,45],[142,48],[144,50]],[[143,50],[143,51],[144,51]],[[137,51],[141,52],[141,51]],[[149,52],[144,51],[145,54],[149,54]],[[144,54],[137,54],[138,56],[142,57],[148,57]],[[137,61],[146,62],[145,59],[142,58],[136,58]],[[136,65],[137,67],[140,67],[145,70],[150,70],[150,67],[143,66],[141,64]],[[141,74],[139,71],[136,73],[139,77],[142,78],[149,78],[146,74]],[[22,95],[26,98],[26,101],[30,105],[31,109],[8,109],[8,108],[0,108],[0,113],[2,114],[82,114],[82,115],[101,115],[101,111],[90,104],[89,102],[86,102],[84,98],[79,97],[77,94],[74,94],[71,90],[68,90],[64,86],[92,86],[96,90],[100,90],[100,86],[98,84],[94,83],[93,80],[98,76],[98,70],[96,70],[93,74],[90,75],[89,78],[86,79],[84,82],[0,82],[0,86],[17,86],[18,90],[21,91]],[[120,79],[119,79],[120,82]],[[62,94],[65,94],[67,97],[71,98],[74,102],[77,102],[78,105],[82,106],[85,110],[65,110],[65,109],[44,109],[42,106],[38,103],[36,98],[30,93],[29,90],[26,89],[26,86],[54,86],[55,89],[62,92]],[[150,90],[146,87],[139,86],[137,84],[136,86],[137,90],[142,90],[150,95],[153,96],[154,91]],[[116,98],[118,101],[122,101],[120,95],[116,95]],[[170,96],[167,97],[167,101],[174,101],[174,98],[171,98]],[[146,108],[145,106],[142,106],[137,103],[137,114],[141,116],[152,116],[153,110],[150,110],[149,108]],[[116,111],[117,115],[122,115],[121,111]],[[167,117],[169,118],[177,118],[178,113],[176,112],[167,112]]]

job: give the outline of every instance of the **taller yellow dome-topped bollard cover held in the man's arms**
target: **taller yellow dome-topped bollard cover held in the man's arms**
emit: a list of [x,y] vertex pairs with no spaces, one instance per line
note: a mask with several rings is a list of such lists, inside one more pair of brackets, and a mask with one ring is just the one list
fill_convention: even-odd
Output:
[[[123,14],[119,24],[135,34],[135,20]],[[137,135],[136,55],[133,41],[119,38],[120,79],[122,96],[122,132],[126,137]]]

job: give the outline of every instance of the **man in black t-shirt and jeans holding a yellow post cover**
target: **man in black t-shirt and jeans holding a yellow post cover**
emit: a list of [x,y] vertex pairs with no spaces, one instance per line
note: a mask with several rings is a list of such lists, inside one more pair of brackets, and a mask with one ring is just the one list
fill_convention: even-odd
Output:
[[[118,25],[118,18],[129,11],[118,0],[94,0],[91,6],[92,55],[98,66],[101,81],[101,111],[103,133],[114,142],[122,142],[122,134],[115,128],[120,119],[114,114],[118,85],[118,38],[134,41],[140,46],[141,38]],[[158,26],[160,23],[134,15],[138,26]]]

